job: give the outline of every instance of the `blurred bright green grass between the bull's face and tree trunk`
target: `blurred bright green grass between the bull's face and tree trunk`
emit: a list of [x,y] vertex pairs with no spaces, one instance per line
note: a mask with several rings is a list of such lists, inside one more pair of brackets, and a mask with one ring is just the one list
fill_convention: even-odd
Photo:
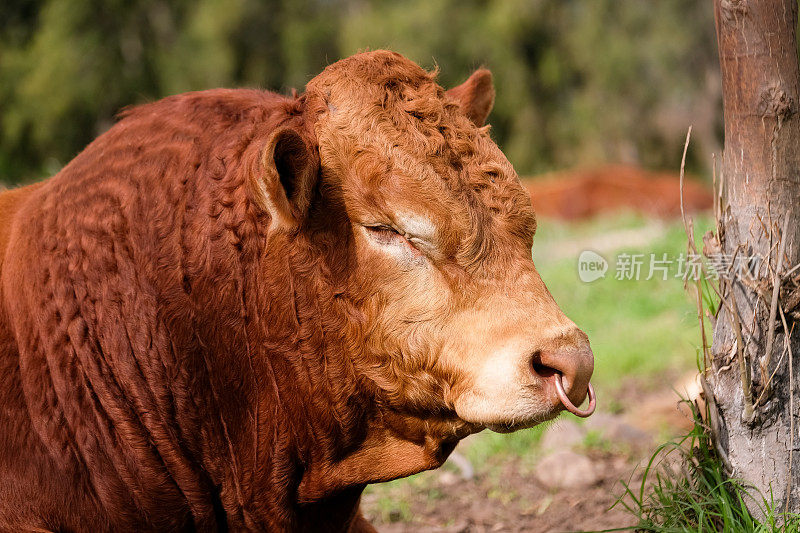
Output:
[[[710,222],[696,224],[698,234]],[[663,227],[634,216],[622,216],[570,227],[542,221],[534,244],[537,268],[564,312],[588,335],[595,354],[594,383],[598,392],[613,395],[627,376],[652,380],[664,375],[691,370],[693,354],[699,344],[695,306],[684,291],[683,282],[674,277],[677,265],[670,268],[667,280],[645,280],[650,254],[675,258],[686,251],[683,225],[672,222]],[[629,246],[622,232],[650,227],[652,240]],[[583,283],[578,278],[577,254],[557,260],[549,255],[568,240],[591,243],[620,234],[619,245],[601,251],[609,261],[605,278]],[[613,239],[612,239],[613,240]],[[615,279],[615,257],[619,253],[645,254],[642,279]]]

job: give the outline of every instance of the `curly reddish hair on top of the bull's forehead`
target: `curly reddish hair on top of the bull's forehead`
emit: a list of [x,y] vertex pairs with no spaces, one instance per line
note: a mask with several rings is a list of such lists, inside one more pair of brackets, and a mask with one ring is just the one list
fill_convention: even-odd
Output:
[[[388,165],[444,180],[470,205],[476,243],[486,217],[505,219],[513,233],[529,233],[535,227],[530,200],[518,185],[509,187],[516,173],[489,138],[488,126],[473,124],[436,75],[379,50],[330,65],[307,89],[326,102],[330,125],[362,145],[356,153],[372,151],[363,139],[380,138],[391,147]],[[379,155],[370,158],[374,164],[388,154]]]

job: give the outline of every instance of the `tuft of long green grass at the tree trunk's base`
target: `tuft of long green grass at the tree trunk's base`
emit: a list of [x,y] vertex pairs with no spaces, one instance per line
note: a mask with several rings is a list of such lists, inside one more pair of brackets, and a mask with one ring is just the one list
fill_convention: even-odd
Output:
[[[692,431],[658,448],[638,488],[626,485],[617,504],[638,518],[636,531],[653,533],[768,533],[800,531],[800,514],[782,514],[771,498],[725,476],[721,461],[691,402]],[[756,520],[747,503],[764,518]]]

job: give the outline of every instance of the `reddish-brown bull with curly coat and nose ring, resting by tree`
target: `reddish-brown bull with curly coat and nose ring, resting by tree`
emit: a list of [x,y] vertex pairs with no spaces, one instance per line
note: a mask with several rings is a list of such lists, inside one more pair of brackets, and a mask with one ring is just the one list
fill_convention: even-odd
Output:
[[0,529],[371,531],[368,483],[583,401],[493,96],[359,54],[134,108],[2,193]]

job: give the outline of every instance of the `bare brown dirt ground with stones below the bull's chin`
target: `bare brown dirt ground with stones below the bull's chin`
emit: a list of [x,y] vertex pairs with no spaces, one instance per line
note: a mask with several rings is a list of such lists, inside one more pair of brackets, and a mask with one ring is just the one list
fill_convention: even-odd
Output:
[[[638,488],[643,466],[657,443],[688,430],[687,412],[673,389],[691,395],[693,387],[693,376],[665,382],[655,390],[642,390],[631,382],[618,398],[628,409],[598,412],[586,424],[562,415],[563,420],[545,432],[534,461],[505,459],[483,472],[476,468],[472,476],[445,465],[388,496],[367,491],[363,509],[384,533],[545,533],[631,527],[635,520],[624,507],[612,508],[624,492],[622,482]],[[468,446],[469,439],[456,449],[458,462],[466,455],[462,447]]]

